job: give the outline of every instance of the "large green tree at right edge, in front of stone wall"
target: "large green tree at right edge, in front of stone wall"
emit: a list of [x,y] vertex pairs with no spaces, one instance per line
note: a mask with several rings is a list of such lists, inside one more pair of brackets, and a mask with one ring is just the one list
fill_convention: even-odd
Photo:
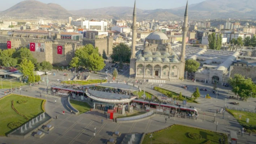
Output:
[[256,96],[256,85],[251,78],[245,78],[240,74],[235,74],[234,78],[229,78],[229,84],[232,86],[232,92],[240,97],[247,99],[249,96]]

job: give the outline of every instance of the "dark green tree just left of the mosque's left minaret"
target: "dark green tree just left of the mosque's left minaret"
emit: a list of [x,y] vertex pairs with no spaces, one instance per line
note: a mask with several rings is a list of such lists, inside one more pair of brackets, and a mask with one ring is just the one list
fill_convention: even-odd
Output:
[[111,58],[114,62],[123,61],[124,63],[130,62],[131,48],[124,43],[120,43],[113,48]]

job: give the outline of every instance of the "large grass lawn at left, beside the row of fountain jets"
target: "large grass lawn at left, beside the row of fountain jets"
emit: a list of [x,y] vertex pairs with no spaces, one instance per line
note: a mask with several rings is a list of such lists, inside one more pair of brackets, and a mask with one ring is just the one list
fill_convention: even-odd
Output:
[[[19,100],[28,100],[28,102],[25,104],[18,104],[17,101]],[[0,134],[8,134],[12,130],[8,127],[8,123],[10,122],[19,121],[25,123],[27,121],[12,109],[12,101],[14,101],[14,107],[18,112],[24,114],[29,119],[43,112],[43,100],[18,95],[4,97],[4,99],[0,100]]]

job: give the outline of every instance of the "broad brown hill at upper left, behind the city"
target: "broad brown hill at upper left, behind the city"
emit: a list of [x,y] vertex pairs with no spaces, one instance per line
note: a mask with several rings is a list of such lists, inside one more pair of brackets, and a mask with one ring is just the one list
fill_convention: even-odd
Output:
[[56,17],[72,15],[66,9],[58,4],[44,4],[35,0],[22,1],[11,8],[0,12],[1,15],[5,16],[18,16],[18,17]]

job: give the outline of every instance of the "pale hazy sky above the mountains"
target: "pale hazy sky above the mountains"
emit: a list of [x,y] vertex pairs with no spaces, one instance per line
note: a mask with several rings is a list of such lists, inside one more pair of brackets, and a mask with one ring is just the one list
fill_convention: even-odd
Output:
[[[24,0],[3,0],[0,11]],[[56,3],[67,10],[94,9],[108,6],[133,6],[134,0],[38,0],[42,3]],[[184,6],[187,0],[136,0],[139,9],[170,9]],[[205,0],[188,0],[189,4],[200,3]]]

